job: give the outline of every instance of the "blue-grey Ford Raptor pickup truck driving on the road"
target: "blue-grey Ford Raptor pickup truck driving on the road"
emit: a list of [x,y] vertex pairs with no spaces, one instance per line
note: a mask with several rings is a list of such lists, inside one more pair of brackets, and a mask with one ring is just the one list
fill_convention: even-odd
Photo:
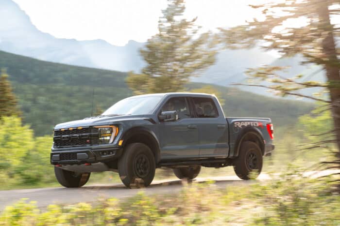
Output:
[[102,115],[54,127],[51,164],[65,187],[81,187],[91,172],[114,171],[125,186],[150,185],[157,167],[192,180],[201,166],[233,166],[243,180],[261,172],[274,150],[269,118],[225,118],[214,95],[133,96]]

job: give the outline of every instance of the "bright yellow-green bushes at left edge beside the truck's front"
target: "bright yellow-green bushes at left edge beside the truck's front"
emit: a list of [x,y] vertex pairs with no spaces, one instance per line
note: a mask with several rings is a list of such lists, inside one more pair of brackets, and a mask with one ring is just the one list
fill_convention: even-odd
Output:
[[16,116],[0,121],[0,189],[54,181],[51,136],[36,137]]

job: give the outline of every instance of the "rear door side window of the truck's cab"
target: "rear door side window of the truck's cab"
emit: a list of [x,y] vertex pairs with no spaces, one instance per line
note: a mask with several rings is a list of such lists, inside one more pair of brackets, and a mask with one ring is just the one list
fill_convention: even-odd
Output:
[[193,100],[198,118],[216,118],[219,116],[216,105],[211,98],[194,97]]

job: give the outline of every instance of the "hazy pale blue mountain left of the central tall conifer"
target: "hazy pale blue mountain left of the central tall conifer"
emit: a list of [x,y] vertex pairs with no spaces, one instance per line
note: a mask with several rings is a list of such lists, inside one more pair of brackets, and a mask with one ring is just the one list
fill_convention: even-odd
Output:
[[12,0],[0,1],[0,49],[39,60],[119,71],[139,70],[142,43],[125,46],[103,40],[77,41],[55,38],[38,30],[29,16]]

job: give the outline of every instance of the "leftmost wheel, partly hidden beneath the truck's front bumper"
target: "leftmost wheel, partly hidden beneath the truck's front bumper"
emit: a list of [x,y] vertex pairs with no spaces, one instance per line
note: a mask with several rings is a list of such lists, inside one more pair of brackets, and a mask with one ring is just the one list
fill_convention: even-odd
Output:
[[91,173],[76,173],[54,166],[54,174],[58,182],[67,188],[77,188],[85,185]]

